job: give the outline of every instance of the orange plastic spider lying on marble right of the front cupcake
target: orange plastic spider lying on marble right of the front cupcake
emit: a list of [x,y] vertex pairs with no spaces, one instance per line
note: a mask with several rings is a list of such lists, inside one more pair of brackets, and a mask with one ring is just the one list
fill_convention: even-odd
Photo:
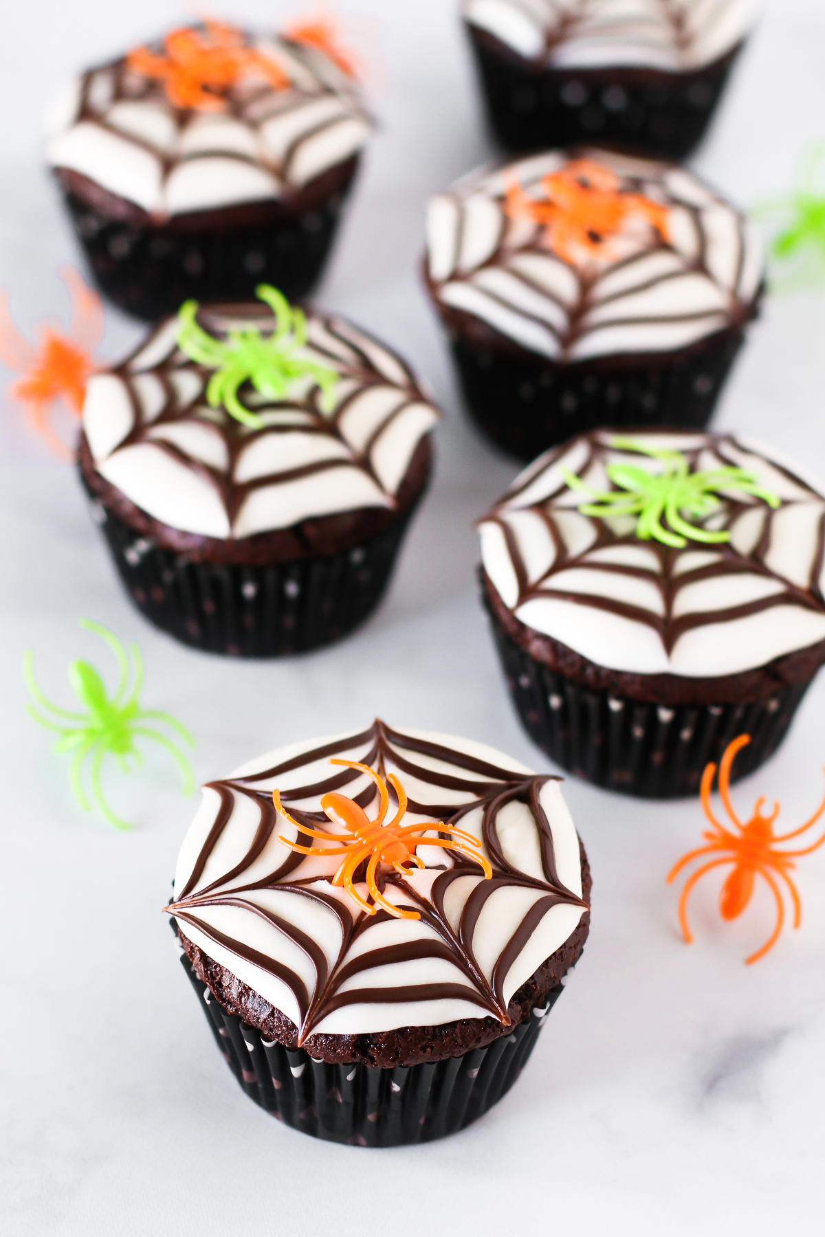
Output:
[[668,883],[670,883],[672,881],[675,881],[683,867],[691,863],[695,858],[700,858],[704,855],[722,855],[722,858],[711,860],[709,863],[703,863],[701,867],[696,868],[682,891],[682,897],[679,898],[679,923],[682,924],[682,931],[688,944],[693,941],[693,935],[690,933],[690,928],[688,927],[688,898],[690,897],[690,891],[696,881],[705,876],[706,872],[710,872],[711,868],[715,867],[722,867],[726,863],[733,865],[733,871],[725,881],[719,899],[720,914],[722,919],[726,920],[736,919],[742,914],[751,901],[756,877],[761,876],[766,881],[773,893],[773,897],[776,898],[777,925],[762,949],[757,950],[756,954],[751,954],[751,956],[746,959],[748,965],[751,965],[751,962],[757,962],[761,957],[764,957],[769,949],[773,949],[779,939],[779,933],[782,931],[782,927],[784,924],[785,910],[782,901],[782,892],[777,880],[774,880],[774,876],[780,881],[784,881],[790,891],[790,898],[794,907],[794,928],[799,928],[801,922],[801,905],[799,902],[799,893],[788,876],[788,872],[793,871],[795,867],[793,860],[799,858],[800,855],[810,855],[813,851],[818,850],[823,842],[825,842],[825,834],[823,834],[819,841],[814,842],[813,846],[806,846],[804,850],[776,850],[777,842],[787,842],[790,841],[792,837],[799,837],[800,834],[804,834],[808,829],[811,829],[816,824],[819,818],[825,811],[825,799],[823,799],[810,820],[806,820],[804,825],[800,825],[799,829],[794,829],[790,834],[779,834],[778,836],[774,835],[773,823],[779,815],[779,804],[774,803],[771,815],[763,816],[762,804],[764,803],[764,795],[757,799],[756,807],[753,808],[753,815],[747,824],[742,824],[733,811],[733,804],[731,803],[730,772],[733,757],[750,742],[750,735],[740,735],[738,738],[735,738],[722,756],[722,761],[719,767],[719,793],[721,795],[722,804],[725,805],[725,810],[738,833],[731,833],[730,829],[721,825],[714,816],[710,807],[710,788],[714,782],[716,766],[709,764],[705,768],[701,779],[701,805],[707,820],[714,826],[712,831],[706,830],[703,835],[710,845],[700,846],[699,850],[690,851],[689,855],[685,855],[684,858],[679,860],[668,875]]

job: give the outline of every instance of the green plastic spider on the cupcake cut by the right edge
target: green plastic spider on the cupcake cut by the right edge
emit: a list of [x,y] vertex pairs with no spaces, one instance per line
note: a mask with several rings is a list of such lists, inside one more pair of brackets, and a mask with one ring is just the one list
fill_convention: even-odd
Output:
[[[745,469],[719,468],[707,473],[691,473],[682,452],[657,450],[632,438],[613,438],[610,445],[617,450],[638,452],[660,460],[664,470],[648,473],[647,469],[632,464],[609,464],[607,476],[617,489],[604,494],[591,490],[569,469],[563,470],[564,480],[571,490],[579,490],[596,500],[579,507],[584,516],[596,516],[602,520],[615,516],[638,516],[636,536],[639,541],[656,538],[674,549],[683,549],[688,539],[707,544],[730,541],[730,533],[724,529],[709,532],[706,528],[696,528],[688,523],[688,520],[703,520],[719,511],[721,502],[715,494],[719,490],[738,490],[741,494],[762,499],[769,507],[779,506],[779,499],[764,490],[758,479]],[[663,518],[667,520],[669,528],[663,526]]]

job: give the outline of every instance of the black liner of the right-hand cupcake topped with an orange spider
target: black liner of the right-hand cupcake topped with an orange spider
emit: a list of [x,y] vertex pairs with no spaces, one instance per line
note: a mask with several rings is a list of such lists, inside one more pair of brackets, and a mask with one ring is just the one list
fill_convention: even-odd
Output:
[[601,427],[704,428],[743,339],[745,328],[736,327],[638,365],[626,356],[571,365],[522,360],[458,336],[451,346],[472,419],[497,447],[532,460]]

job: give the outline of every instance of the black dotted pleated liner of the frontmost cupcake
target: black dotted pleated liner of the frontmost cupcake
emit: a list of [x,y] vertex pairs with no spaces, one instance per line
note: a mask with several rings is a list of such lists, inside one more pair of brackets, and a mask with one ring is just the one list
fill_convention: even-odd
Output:
[[293,1129],[354,1147],[428,1143],[477,1121],[510,1091],[564,991],[552,988],[542,1008],[487,1048],[434,1064],[376,1069],[330,1065],[302,1048],[270,1043],[226,1013],[186,954],[181,961],[220,1054],[250,1100]]

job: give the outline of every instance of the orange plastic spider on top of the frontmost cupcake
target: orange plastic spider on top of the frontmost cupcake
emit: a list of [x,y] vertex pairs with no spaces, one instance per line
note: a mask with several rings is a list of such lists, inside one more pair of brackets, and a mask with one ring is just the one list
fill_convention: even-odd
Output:
[[[417,910],[402,910],[400,907],[388,902],[378,889],[376,876],[378,870],[378,863],[386,863],[401,872],[402,876],[407,875],[407,868],[404,865],[414,863],[416,867],[424,867],[424,863],[416,855],[417,846],[443,846],[447,850],[459,851],[461,855],[466,855],[469,858],[474,860],[484,870],[485,878],[489,881],[492,876],[492,868],[489,861],[481,854],[481,842],[472,834],[466,834],[461,829],[455,829],[454,825],[406,825],[401,826],[401,821],[407,810],[407,795],[401,782],[393,777],[391,773],[388,782],[396,792],[398,798],[398,810],[392,818],[392,820],[385,824],[385,816],[387,815],[387,809],[390,807],[390,795],[387,793],[387,787],[383,778],[369,767],[369,764],[357,764],[355,761],[339,761],[331,760],[330,764],[344,764],[351,769],[359,769],[361,773],[366,773],[371,777],[378,788],[381,794],[381,807],[378,809],[378,815],[375,820],[370,820],[364,808],[359,807],[353,799],[348,799],[345,794],[338,794],[331,792],[325,794],[320,800],[323,810],[327,813],[328,818],[334,825],[346,830],[346,834],[325,834],[317,829],[307,829],[298,820],[289,815],[283,804],[281,803],[281,795],[277,789],[272,792],[272,800],[277,811],[282,816],[286,816],[291,824],[296,826],[302,834],[307,834],[309,837],[315,837],[318,841],[324,842],[343,842],[334,849],[320,847],[320,846],[299,846],[297,842],[287,841],[286,837],[278,837],[278,841],[289,850],[298,851],[301,855],[319,855],[327,858],[330,855],[345,855],[346,858],[341,862],[333,884],[339,888],[343,886],[349,896],[360,907],[361,910],[366,910],[369,915],[376,914],[378,907],[386,910],[388,914],[395,915],[396,919],[421,919]],[[453,834],[454,839],[458,841],[445,841],[438,837],[424,836],[427,830],[437,829],[443,834]],[[464,845],[463,845],[464,844]],[[366,886],[372,897],[371,905],[366,902],[360,893],[355,889],[353,884],[353,878],[355,872],[361,866],[361,863],[369,860],[366,870]]]

